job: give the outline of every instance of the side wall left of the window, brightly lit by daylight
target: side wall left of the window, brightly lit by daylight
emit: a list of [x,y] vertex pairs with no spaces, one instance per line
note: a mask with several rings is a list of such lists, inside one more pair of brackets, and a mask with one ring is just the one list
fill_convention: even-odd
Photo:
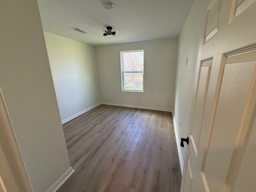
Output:
[[94,46],[44,32],[61,120],[100,102]]

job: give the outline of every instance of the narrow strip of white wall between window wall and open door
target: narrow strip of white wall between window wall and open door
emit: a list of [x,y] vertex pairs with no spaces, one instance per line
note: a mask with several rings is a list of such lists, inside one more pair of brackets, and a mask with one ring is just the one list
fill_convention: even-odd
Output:
[[[200,63],[206,10],[210,2],[211,0],[194,2],[179,37],[174,101],[174,115],[179,139],[188,136],[190,112],[194,105],[194,79],[197,64]],[[188,58],[188,65],[186,65],[186,58]],[[179,126],[180,120],[181,126]],[[185,149],[181,148],[183,160],[185,160]]]

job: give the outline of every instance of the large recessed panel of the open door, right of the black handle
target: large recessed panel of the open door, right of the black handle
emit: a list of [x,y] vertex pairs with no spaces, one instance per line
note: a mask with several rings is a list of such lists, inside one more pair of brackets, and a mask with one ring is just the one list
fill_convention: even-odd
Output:
[[209,148],[201,170],[210,191],[223,189],[255,65],[256,60],[225,65]]

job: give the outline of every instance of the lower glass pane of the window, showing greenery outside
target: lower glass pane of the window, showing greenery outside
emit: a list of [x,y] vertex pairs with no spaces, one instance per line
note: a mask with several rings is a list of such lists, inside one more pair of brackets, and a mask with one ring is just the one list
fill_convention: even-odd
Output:
[[125,90],[143,90],[143,73],[124,73]]

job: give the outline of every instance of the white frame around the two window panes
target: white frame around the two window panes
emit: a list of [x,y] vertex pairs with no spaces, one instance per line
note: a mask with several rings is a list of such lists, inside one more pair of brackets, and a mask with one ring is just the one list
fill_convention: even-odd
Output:
[[[143,71],[124,71],[123,54],[124,54],[124,53],[132,53],[132,52],[143,52]],[[128,92],[144,92],[144,50],[121,51],[121,52],[120,52],[120,58],[121,58],[122,91],[128,91]],[[142,90],[124,89],[124,73],[142,73]]]

